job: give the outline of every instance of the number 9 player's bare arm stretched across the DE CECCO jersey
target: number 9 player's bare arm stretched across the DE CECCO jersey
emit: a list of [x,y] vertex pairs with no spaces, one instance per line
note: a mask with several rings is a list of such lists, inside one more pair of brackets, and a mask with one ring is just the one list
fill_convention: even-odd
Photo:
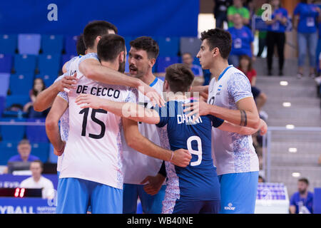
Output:
[[159,114],[156,110],[144,108],[136,103],[116,102],[98,98],[91,94],[78,95],[76,103],[77,105],[81,105],[81,108],[103,109],[136,122],[158,124],[160,121]]

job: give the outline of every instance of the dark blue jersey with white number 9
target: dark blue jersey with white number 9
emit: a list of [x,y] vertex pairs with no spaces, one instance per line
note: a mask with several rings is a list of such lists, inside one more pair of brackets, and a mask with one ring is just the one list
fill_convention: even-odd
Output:
[[[171,197],[187,200],[219,200],[216,167],[211,154],[212,126],[219,127],[224,120],[212,115],[201,116],[192,123],[192,118],[185,118],[183,103],[188,101],[169,101],[158,109],[161,116],[159,128],[167,125],[170,150],[183,148],[192,154],[188,167],[177,167],[166,162],[168,189]],[[170,195],[170,194],[169,194]]]

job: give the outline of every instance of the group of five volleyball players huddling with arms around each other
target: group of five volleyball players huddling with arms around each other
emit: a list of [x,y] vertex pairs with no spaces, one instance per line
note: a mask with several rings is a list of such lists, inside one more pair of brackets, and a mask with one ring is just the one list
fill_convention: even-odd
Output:
[[85,48],[34,103],[51,107],[56,213],[136,213],[138,197],[151,214],[253,213],[251,135],[267,125],[248,78],[228,65],[230,33],[202,33],[197,57],[213,79],[195,88],[184,64],[166,68],[164,81],[153,75],[159,48],[147,36],[131,41],[123,74],[127,50],[117,33],[107,21],[89,23],[78,41]]

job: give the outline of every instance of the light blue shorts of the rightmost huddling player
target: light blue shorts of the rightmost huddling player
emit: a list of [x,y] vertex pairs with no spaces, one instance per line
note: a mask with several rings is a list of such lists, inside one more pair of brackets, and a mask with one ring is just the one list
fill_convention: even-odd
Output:
[[230,173],[218,176],[220,214],[254,214],[258,172]]

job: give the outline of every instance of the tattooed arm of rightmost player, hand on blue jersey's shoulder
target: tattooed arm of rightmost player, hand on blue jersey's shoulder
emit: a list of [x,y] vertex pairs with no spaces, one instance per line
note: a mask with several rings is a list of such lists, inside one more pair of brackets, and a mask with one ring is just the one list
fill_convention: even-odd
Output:
[[260,117],[258,115],[258,108],[256,108],[253,98],[243,98],[236,103],[237,110],[230,110],[222,108],[217,105],[210,105],[200,99],[199,102],[186,103],[184,112],[190,112],[187,117],[195,115],[193,118],[197,120],[200,115],[215,115],[218,118],[227,120],[236,125],[257,129],[260,127]]

